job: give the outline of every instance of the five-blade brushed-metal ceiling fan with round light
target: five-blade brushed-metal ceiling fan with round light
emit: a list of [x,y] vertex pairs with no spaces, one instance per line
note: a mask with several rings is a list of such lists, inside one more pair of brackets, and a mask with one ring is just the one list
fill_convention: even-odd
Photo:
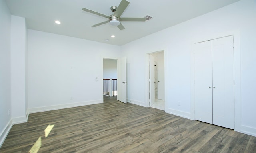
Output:
[[121,21],[146,21],[146,17],[144,18],[127,18],[127,17],[120,17],[122,15],[122,13],[124,12],[124,10],[127,8],[127,6],[130,4],[130,2],[126,1],[126,0],[122,0],[119,4],[118,7],[116,6],[111,6],[111,10],[112,12],[114,12],[112,15],[107,16],[105,14],[101,14],[92,10],[89,10],[87,8],[82,8],[83,11],[86,12],[90,12],[99,16],[103,16],[105,18],[108,18],[107,21],[98,23],[93,25],[92,27],[96,27],[96,26],[100,26],[102,24],[106,24],[109,22],[110,25],[112,26],[117,26],[120,30],[124,29],[124,26],[121,24]]

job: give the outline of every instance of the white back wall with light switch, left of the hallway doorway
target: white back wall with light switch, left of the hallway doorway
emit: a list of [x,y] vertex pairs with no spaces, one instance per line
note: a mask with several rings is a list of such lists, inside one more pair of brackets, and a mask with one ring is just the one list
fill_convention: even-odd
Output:
[[103,58],[119,57],[119,46],[28,30],[30,112],[103,102]]

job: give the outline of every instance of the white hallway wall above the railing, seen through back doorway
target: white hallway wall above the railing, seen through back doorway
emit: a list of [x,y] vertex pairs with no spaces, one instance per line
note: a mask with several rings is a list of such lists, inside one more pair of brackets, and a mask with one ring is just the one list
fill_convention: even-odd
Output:
[[117,61],[115,59],[103,59],[103,78],[117,78]]

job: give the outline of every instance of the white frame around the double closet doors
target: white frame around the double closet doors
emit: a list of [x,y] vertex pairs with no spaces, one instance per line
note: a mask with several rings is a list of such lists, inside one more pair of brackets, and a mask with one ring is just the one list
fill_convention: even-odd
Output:
[[191,119],[195,120],[195,84],[194,84],[194,44],[218,39],[221,37],[231,36],[234,38],[234,131],[241,132],[241,61],[240,61],[240,31],[227,31],[202,37],[197,40],[190,41],[190,97],[191,97]]

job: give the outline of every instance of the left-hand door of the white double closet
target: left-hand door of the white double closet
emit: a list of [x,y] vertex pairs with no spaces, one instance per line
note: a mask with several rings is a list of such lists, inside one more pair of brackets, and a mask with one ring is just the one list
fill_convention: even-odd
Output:
[[212,124],[212,41],[196,43],[195,119]]

